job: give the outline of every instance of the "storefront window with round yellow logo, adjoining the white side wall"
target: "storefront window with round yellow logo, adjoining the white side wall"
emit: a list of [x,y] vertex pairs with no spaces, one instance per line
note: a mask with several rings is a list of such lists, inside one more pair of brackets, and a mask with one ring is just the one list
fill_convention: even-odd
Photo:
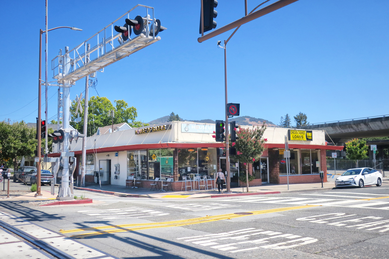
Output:
[[127,179],[129,176],[147,176],[147,151],[135,150],[127,151]]

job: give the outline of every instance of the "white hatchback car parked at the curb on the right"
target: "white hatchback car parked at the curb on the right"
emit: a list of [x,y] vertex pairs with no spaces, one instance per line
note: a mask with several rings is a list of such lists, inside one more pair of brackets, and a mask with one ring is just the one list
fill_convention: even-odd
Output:
[[368,167],[354,168],[345,171],[336,178],[335,187],[358,186],[362,188],[365,185],[375,184],[381,186],[382,174]]

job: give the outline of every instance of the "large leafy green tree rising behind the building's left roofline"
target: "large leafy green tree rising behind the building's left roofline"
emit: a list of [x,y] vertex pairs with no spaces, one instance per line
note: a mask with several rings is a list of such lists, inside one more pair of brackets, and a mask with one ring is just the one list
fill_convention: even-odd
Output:
[[[84,107],[84,101],[85,99],[82,99],[81,101],[82,107]],[[114,110],[115,112],[115,117],[113,119],[114,124],[126,122],[133,128],[149,125],[136,120],[138,113],[134,106],[128,107],[128,103],[124,100],[115,100],[114,102],[116,104],[115,107],[107,97],[92,96],[89,98],[87,136],[95,134],[98,127],[104,127],[112,124],[112,118],[109,114],[109,110]],[[76,107],[77,102],[73,101],[72,107],[70,108],[72,120],[77,118],[77,114],[75,114]],[[82,129],[84,125],[84,116],[80,115],[80,117],[81,122],[70,122],[70,125],[72,125],[80,133],[84,133]]]

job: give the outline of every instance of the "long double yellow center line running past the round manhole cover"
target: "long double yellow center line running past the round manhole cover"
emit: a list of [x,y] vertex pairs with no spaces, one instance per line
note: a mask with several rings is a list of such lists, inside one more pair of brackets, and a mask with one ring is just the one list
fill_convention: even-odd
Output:
[[[74,233],[74,232],[80,232],[80,231],[95,231],[95,232],[90,232],[90,233],[72,236],[75,238],[84,238],[87,236],[111,234],[111,233],[118,233],[118,232],[124,232],[124,231],[136,231],[136,230],[151,229],[151,228],[179,227],[179,226],[206,223],[206,222],[212,222],[212,221],[223,220],[223,219],[233,219],[233,218],[237,218],[237,217],[245,217],[245,216],[250,216],[250,215],[281,212],[281,211],[286,211],[286,210],[306,209],[306,208],[310,208],[310,207],[317,207],[317,205],[303,205],[303,206],[285,207],[285,208],[270,209],[270,210],[256,210],[256,211],[251,211],[250,213],[252,213],[252,214],[249,214],[249,215],[239,215],[239,214],[232,214],[231,213],[231,214],[224,214],[224,215],[217,215],[217,216],[198,217],[198,218],[194,218],[194,219],[183,219],[183,220],[166,221],[166,222],[143,223],[143,224],[125,224],[125,225],[114,225],[114,226],[102,226],[102,227],[96,227],[96,228],[78,228],[78,229],[64,230],[64,231],[60,231],[60,232],[63,234],[67,234],[67,233]],[[114,228],[114,229],[112,229],[112,228]],[[112,229],[112,230],[104,230],[104,229]]]

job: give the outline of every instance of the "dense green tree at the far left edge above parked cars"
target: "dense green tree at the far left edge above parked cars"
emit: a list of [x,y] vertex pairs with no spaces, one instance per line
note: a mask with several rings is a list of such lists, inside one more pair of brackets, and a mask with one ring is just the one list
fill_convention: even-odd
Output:
[[0,159],[13,160],[14,170],[18,169],[18,156],[33,156],[37,148],[36,130],[26,123],[0,122]]

